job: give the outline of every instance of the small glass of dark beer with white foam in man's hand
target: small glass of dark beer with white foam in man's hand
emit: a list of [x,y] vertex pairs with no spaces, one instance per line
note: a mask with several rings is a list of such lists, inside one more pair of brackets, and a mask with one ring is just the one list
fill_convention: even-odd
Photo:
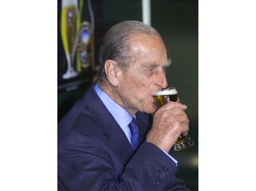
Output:
[[[154,94],[154,100],[158,108],[162,107],[166,103],[169,103],[170,101],[180,103],[180,97],[175,87],[165,88],[164,90],[156,92],[156,94]],[[192,145],[194,145],[194,141],[190,139],[188,135],[184,136],[180,134],[180,136],[175,141],[174,150],[180,151]]]

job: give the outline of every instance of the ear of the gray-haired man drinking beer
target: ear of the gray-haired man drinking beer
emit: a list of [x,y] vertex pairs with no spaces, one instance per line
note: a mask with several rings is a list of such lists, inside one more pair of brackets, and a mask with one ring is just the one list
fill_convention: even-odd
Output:
[[106,60],[104,67],[109,82],[113,86],[117,86],[119,84],[118,76],[120,72],[117,62],[115,60]]

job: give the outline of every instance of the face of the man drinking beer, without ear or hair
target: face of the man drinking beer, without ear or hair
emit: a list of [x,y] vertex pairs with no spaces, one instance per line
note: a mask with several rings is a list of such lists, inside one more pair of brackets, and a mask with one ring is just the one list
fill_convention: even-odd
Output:
[[137,111],[152,114],[156,111],[154,93],[167,87],[167,50],[160,39],[149,36],[133,37],[131,45],[135,63],[122,71],[117,93],[131,115]]

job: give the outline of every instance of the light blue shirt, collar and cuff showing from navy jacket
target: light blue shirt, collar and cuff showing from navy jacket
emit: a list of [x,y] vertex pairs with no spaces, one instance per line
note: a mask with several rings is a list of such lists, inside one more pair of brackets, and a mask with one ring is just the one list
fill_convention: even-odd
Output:
[[[132,116],[130,116],[126,109],[115,103],[115,101],[113,101],[113,99],[111,99],[108,94],[103,92],[98,83],[95,85],[94,88],[96,90],[96,93],[98,94],[98,97],[100,97],[101,101],[106,106],[106,109],[108,109],[113,118],[115,118],[117,124],[119,124],[119,126],[122,128],[128,141],[131,143],[130,128],[128,127],[128,124],[130,124],[130,122],[132,121]],[[162,152],[165,151],[162,150]],[[177,160],[175,160],[175,158],[170,156],[167,152],[165,152],[165,154],[167,154],[167,156],[169,156],[169,158],[171,158],[171,160],[173,160],[173,162],[175,162],[177,166]]]

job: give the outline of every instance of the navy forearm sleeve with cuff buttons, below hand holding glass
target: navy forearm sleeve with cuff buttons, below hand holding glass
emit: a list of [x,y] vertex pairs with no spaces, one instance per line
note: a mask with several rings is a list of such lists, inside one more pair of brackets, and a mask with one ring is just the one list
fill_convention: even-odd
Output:
[[175,162],[156,145],[145,142],[128,162],[120,178],[138,185],[135,190],[188,190],[184,181],[176,179],[176,173]]

